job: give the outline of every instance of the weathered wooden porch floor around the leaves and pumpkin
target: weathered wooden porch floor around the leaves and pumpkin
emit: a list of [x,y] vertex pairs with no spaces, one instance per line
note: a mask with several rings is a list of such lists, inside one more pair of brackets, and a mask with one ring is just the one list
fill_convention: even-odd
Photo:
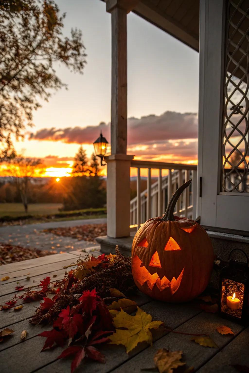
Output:
[[[95,254],[99,255],[96,252]],[[19,286],[29,285],[27,276],[30,278],[30,285],[38,285],[45,276],[53,278],[53,275],[57,275],[56,280],[62,279],[65,273],[63,266],[76,261],[78,255],[79,251],[73,251],[1,266],[0,277],[9,276],[10,279],[0,282],[0,304],[4,304],[14,296],[17,281]],[[162,320],[166,326],[178,332],[206,333],[219,348],[200,346],[191,341],[189,335],[155,330],[153,331],[153,347],[139,344],[130,354],[126,354],[123,346],[106,344],[100,348],[106,355],[105,364],[84,362],[77,372],[140,372],[142,368],[154,366],[153,356],[159,348],[163,347],[171,351],[183,351],[183,361],[186,361],[186,366],[177,372],[184,372],[188,367],[194,367],[193,372],[236,373],[238,370],[233,365],[249,366],[249,327],[243,327],[221,319],[215,314],[200,311],[194,302],[166,304],[153,301],[141,293],[134,300],[144,311],[152,315],[153,320]],[[40,352],[44,338],[37,335],[43,330],[50,330],[50,327],[32,326],[28,323],[35,311],[34,307],[38,307],[39,304],[40,301],[25,303],[21,311],[13,311],[12,308],[0,312],[0,330],[9,327],[15,331],[0,343],[1,372],[70,373],[71,359],[56,360],[62,348]],[[234,335],[219,334],[215,329],[220,325],[230,327]],[[21,342],[20,335],[23,330],[27,330],[28,334],[26,340]],[[149,372],[155,371],[149,370]]]

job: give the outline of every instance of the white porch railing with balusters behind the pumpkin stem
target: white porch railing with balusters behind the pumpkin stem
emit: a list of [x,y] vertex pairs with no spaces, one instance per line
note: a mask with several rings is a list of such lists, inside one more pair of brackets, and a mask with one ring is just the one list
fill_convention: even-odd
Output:
[[[162,216],[176,189],[185,181],[192,179],[177,201],[175,214],[192,219],[196,218],[197,166],[194,164],[164,163],[150,161],[131,161],[131,167],[137,169],[137,197],[130,201],[130,225],[140,227],[141,223],[155,216]],[[140,191],[140,169],[147,169],[147,189]],[[158,169],[158,181],[151,184],[151,169]],[[162,170],[168,175],[162,177]]]

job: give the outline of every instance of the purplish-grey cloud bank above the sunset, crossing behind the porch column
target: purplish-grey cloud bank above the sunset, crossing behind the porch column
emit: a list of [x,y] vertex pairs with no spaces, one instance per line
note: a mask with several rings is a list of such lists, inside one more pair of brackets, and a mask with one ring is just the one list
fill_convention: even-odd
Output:
[[[140,119],[128,119],[128,145],[146,144],[178,139],[197,138],[197,114],[165,112],[162,115],[148,115]],[[101,122],[98,126],[43,128],[31,133],[30,140],[62,141],[67,144],[91,144],[102,131],[108,140],[111,138],[111,125]]]

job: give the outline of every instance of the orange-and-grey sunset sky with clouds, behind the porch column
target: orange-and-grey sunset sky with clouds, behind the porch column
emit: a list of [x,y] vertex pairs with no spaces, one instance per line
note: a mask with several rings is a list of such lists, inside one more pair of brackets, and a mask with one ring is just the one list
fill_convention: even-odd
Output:
[[[43,159],[43,176],[61,177],[70,175],[81,144],[90,157],[100,130],[108,141],[111,138],[111,16],[100,0],[56,3],[66,12],[65,36],[71,27],[82,30],[87,65],[83,75],[55,66],[68,90],[53,92],[48,103],[41,102],[34,126],[14,144],[19,154]],[[137,15],[128,15],[128,154],[197,163],[198,65],[196,51]]]

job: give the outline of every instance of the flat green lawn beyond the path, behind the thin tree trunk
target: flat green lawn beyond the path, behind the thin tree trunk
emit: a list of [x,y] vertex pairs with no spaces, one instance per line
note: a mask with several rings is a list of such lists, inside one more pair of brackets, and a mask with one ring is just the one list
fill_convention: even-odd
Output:
[[[28,205],[30,215],[48,215],[59,212],[61,203],[31,203]],[[24,206],[21,203],[0,203],[0,217],[2,216],[23,216]]]

